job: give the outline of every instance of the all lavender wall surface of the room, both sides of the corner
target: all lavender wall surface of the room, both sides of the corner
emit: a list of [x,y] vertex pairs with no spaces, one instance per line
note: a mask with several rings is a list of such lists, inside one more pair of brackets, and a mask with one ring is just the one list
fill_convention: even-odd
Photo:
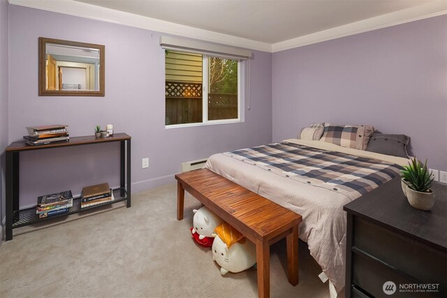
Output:
[[[0,80],[0,146],[20,140],[25,126],[68,124],[76,136],[114,124],[132,136],[138,192],[173,181],[183,161],[295,137],[313,121],[331,121],[410,135],[413,153],[447,170],[446,16],[274,54],[254,51],[244,123],[166,129],[160,33],[0,3],[6,78]],[[38,96],[39,36],[105,45],[105,97]],[[14,63],[6,75],[8,60]],[[143,170],[144,157],[149,168]],[[79,193],[103,181],[116,186],[118,158],[117,144],[24,153],[21,205],[52,191]]]

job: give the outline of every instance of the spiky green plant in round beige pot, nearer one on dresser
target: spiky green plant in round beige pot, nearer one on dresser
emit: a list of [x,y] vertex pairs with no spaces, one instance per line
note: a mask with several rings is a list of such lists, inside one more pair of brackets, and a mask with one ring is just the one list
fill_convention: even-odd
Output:
[[411,206],[430,210],[434,204],[434,192],[430,189],[433,178],[428,172],[427,161],[422,164],[416,156],[402,170],[402,190]]

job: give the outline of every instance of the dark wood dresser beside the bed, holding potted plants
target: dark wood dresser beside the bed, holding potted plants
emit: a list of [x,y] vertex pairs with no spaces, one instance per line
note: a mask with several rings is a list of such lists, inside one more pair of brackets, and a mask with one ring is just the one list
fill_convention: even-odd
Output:
[[400,178],[344,206],[346,297],[447,297],[447,185],[432,189],[431,211],[410,206]]

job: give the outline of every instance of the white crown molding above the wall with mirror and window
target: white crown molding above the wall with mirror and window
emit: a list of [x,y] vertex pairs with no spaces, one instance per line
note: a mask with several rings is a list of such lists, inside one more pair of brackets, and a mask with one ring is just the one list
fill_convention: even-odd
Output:
[[204,40],[211,43],[221,43],[225,45],[232,45],[234,47],[244,47],[251,50],[272,52],[272,45],[270,43],[262,43],[260,41],[247,38],[240,38],[228,34],[175,24],[173,22],[166,22],[163,20],[154,19],[152,17],[125,13],[124,11],[95,6],[89,3],[73,0],[8,0],[8,2],[17,6],[25,6],[29,8],[52,11],[54,13],[64,13],[66,15],[85,17],[91,20],[121,24],[140,29],[157,31],[160,33],[173,34],[175,36]]

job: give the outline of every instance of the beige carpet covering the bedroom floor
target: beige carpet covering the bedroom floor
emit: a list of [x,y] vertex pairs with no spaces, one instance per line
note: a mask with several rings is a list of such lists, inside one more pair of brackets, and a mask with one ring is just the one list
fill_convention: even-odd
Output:
[[[0,297],[256,297],[256,270],[221,276],[210,248],[191,239],[192,209],[177,221],[176,185],[82,216],[15,229],[0,246]],[[86,211],[87,212],[87,211]],[[329,297],[300,241],[300,283],[286,277],[286,245],[271,247],[272,297]]]

